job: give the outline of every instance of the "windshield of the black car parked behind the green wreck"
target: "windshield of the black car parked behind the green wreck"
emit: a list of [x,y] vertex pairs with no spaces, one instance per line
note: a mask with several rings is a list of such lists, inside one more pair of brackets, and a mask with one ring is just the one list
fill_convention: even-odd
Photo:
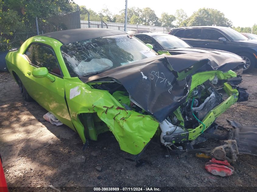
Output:
[[191,47],[183,40],[173,35],[156,35],[153,38],[162,46],[162,49]]

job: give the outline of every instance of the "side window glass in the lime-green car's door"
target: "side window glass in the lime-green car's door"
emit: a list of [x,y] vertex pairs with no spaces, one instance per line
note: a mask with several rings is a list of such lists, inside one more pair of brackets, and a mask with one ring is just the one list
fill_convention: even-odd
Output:
[[61,75],[61,69],[54,56],[54,51],[47,46],[31,44],[25,52],[30,62],[39,67],[46,67],[49,72]]

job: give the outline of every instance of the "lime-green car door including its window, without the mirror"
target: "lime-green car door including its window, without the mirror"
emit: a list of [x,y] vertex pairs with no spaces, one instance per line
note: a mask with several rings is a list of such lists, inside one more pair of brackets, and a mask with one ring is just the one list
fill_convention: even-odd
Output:
[[[24,85],[30,96],[43,108],[53,113],[61,122],[72,127],[70,115],[64,95],[64,79],[54,50],[41,43],[32,43],[24,55],[30,62],[25,74],[27,82]],[[46,67],[54,82],[46,77],[35,78],[32,71],[38,67]]]

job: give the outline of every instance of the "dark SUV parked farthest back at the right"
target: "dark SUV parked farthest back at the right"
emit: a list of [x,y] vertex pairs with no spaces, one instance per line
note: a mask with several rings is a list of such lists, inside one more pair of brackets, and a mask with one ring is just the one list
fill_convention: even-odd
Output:
[[181,27],[169,32],[193,47],[219,49],[241,56],[245,61],[244,71],[250,71],[257,63],[257,41],[248,39],[228,27],[199,26]]

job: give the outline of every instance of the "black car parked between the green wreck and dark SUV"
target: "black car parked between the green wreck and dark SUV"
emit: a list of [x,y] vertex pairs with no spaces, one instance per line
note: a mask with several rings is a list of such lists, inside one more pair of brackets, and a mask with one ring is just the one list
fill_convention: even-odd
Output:
[[[153,50],[158,51],[168,51],[171,55],[179,55],[185,53],[215,53],[224,56],[225,58],[241,59],[240,56],[221,50],[215,49],[205,49],[205,48],[194,48],[185,41],[179,39],[174,35],[169,35],[165,33],[140,33],[134,35],[139,40],[145,44],[153,45]],[[239,67],[233,69],[235,72],[242,73],[242,68],[244,68],[245,62],[242,62]],[[241,69],[241,70],[240,70]]]

